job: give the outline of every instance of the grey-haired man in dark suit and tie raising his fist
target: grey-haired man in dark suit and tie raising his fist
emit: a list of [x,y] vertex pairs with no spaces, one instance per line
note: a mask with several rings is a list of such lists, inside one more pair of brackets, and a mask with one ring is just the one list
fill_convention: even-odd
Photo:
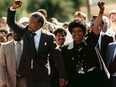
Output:
[[[39,12],[34,12],[30,15],[28,25],[25,28],[21,27],[14,21],[16,9],[20,8],[21,5],[20,0],[14,1],[7,13],[9,27],[24,41],[17,76],[26,77],[27,87],[51,87],[51,77],[47,66],[48,56],[51,55],[59,70],[60,86],[64,86],[66,73],[63,58],[54,43],[53,36],[42,30],[44,16]],[[32,41],[30,41],[32,33],[36,33],[34,36],[35,48],[31,45]]]

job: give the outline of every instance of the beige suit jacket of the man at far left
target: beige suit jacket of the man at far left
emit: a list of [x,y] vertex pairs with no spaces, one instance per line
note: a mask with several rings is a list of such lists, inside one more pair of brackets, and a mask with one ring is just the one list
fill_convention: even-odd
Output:
[[16,56],[13,40],[3,43],[0,47],[0,87],[3,84],[16,87]]

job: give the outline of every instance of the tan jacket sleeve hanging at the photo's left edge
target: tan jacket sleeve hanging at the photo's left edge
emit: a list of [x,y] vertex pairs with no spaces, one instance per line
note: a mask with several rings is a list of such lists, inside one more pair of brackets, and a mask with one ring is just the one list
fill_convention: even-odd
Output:
[[0,47],[0,86],[6,84],[6,61],[5,61],[5,52],[4,48],[1,45]]

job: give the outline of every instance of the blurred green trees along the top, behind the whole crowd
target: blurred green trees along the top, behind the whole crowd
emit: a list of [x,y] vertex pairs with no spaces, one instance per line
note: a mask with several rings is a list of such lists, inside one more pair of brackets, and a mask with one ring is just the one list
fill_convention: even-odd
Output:
[[[7,8],[14,0],[0,0],[0,18],[7,15]],[[102,0],[103,1],[103,0]],[[104,0],[105,2],[116,2],[116,0]],[[22,16],[29,17],[29,14],[44,8],[48,12],[48,19],[56,17],[61,22],[72,19],[75,11],[80,7],[87,7],[87,0],[22,0],[23,6],[17,11],[17,20]],[[97,6],[96,6],[97,7]]]

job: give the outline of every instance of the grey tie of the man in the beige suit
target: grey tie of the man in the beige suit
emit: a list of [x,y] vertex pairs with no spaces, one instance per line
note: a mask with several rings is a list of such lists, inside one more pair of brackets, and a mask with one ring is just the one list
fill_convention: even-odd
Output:
[[19,63],[20,63],[20,59],[21,59],[21,43],[20,41],[17,41],[17,44],[16,44],[16,66],[17,66],[17,69],[18,69],[18,66],[19,66]]

